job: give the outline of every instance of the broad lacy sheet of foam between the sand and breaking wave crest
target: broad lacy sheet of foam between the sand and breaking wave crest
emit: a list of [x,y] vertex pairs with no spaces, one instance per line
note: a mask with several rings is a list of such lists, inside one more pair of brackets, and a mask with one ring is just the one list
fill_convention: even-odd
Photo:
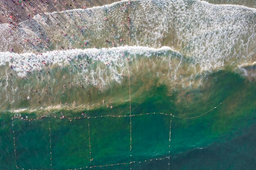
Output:
[[[17,30],[12,30],[13,36],[8,37],[8,24],[3,24],[0,39],[7,43],[2,44],[0,50],[8,51],[10,46],[20,46],[23,53],[42,53],[60,46],[80,48],[79,43],[83,44],[83,40],[89,40],[88,48],[93,45],[101,48],[111,46],[105,42],[106,39],[117,43],[122,38],[126,39],[124,45],[130,46],[156,49],[172,46],[184,56],[192,57],[203,71],[255,59],[256,9],[213,5],[197,0],[132,0],[128,11],[123,8],[127,2],[35,15],[32,20],[20,23]],[[120,24],[127,22],[128,16],[131,20],[131,42],[127,42],[127,25]],[[59,26],[56,27],[57,22]],[[75,25],[84,26],[82,32]],[[47,37],[50,37],[49,43],[45,42]],[[34,41],[24,42],[33,38]],[[36,42],[37,38],[42,42]],[[49,49],[46,49],[47,45]],[[121,45],[117,43],[117,46]]]

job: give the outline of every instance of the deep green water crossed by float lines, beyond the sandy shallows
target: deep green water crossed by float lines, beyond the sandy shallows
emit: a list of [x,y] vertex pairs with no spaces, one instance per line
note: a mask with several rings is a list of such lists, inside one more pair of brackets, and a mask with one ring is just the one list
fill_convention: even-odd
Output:
[[[147,74],[147,73],[145,73]],[[145,75],[143,75],[145,76]],[[168,115],[132,117],[132,150],[130,152],[130,117],[99,117],[35,121],[11,121],[13,113],[0,117],[0,169],[16,169],[13,130],[16,143],[17,166],[24,169],[50,169],[49,126],[51,126],[52,169],[63,170],[94,165],[128,163],[170,156],[171,169],[240,169],[242,165],[255,168],[256,84],[229,71],[212,73],[198,88],[175,88],[158,84],[157,78],[146,83],[143,77],[131,77],[131,112],[172,113],[195,119],[172,118],[170,154]],[[115,90],[102,92],[106,103],[93,110],[79,113],[65,111],[65,115],[79,117],[81,113],[96,115],[130,115],[129,91],[124,81]],[[141,87],[146,88],[141,88]],[[110,104],[107,99],[117,95],[120,101]],[[121,93],[123,92],[123,93]],[[108,97],[108,98],[106,98]],[[113,106],[112,109],[106,105]],[[60,111],[54,113],[60,117]],[[36,113],[22,113],[36,118]],[[88,121],[90,121],[89,150]],[[13,125],[13,126],[12,126]],[[202,148],[202,149],[200,149]],[[132,155],[132,157],[130,157]],[[240,157],[239,155],[247,155]],[[249,156],[250,155],[250,156]],[[239,160],[236,161],[236,158]],[[223,159],[225,158],[225,159]],[[168,169],[168,159],[131,165],[94,169]],[[218,163],[217,163],[218,162]],[[200,167],[196,166],[200,163]],[[209,166],[213,163],[213,166]],[[246,168],[247,167],[247,168]]]

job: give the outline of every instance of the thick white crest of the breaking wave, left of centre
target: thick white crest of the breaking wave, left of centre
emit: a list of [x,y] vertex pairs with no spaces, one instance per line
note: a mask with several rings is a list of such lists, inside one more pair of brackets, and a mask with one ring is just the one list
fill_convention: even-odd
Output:
[[[130,55],[145,55],[149,56],[152,53],[166,53],[166,51],[174,51],[170,47],[163,46],[160,49],[154,49],[143,46],[120,46],[110,49],[71,49],[65,51],[47,51],[46,53],[10,53],[0,52],[0,65],[9,64],[14,71],[20,76],[25,76],[31,71],[40,71],[46,68],[49,64],[70,64],[74,59],[78,59],[83,55],[88,56],[88,60],[92,62],[102,62],[106,65],[124,66],[127,60],[121,60],[121,57],[128,57],[125,53]],[[178,53],[175,51],[175,53]],[[83,57],[81,57],[83,59]]]

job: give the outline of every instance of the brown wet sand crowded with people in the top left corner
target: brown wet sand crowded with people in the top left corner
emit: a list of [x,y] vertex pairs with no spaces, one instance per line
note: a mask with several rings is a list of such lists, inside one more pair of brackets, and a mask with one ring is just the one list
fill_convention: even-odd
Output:
[[0,23],[17,24],[38,13],[102,6],[119,0],[4,0],[0,2]]

